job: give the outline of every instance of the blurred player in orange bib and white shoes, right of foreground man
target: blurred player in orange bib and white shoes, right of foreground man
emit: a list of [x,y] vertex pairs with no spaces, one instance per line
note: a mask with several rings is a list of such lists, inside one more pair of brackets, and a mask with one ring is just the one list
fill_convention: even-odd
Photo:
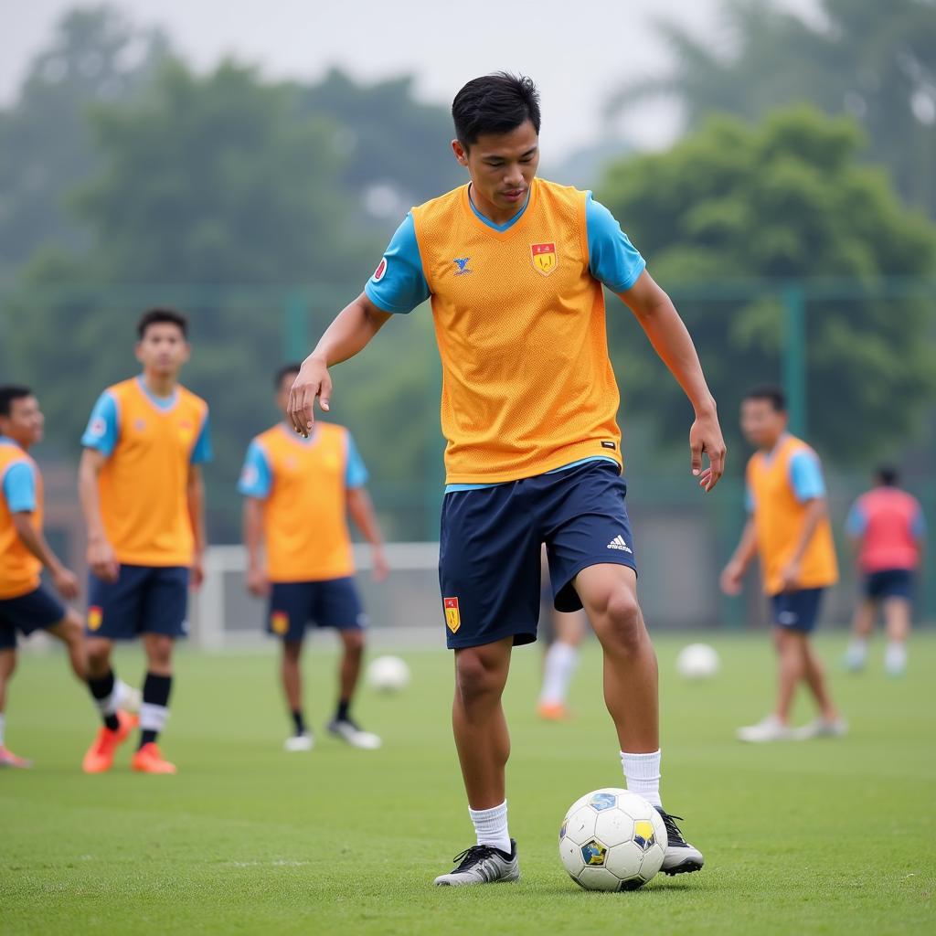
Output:
[[[780,683],[773,713],[739,728],[742,741],[779,741],[843,735],[840,718],[810,635],[823,591],[839,578],[826,506],[826,485],[815,452],[786,431],[786,402],[776,388],[752,390],[741,404],[741,431],[757,451],[748,462],[748,522],[722,573],[726,594],[738,594],[755,555],[773,611]],[[790,708],[800,681],[815,698],[819,717],[797,730]]]

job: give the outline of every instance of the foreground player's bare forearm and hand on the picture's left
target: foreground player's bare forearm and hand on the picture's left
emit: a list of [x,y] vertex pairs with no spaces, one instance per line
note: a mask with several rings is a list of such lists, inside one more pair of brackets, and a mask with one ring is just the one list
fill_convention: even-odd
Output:
[[302,362],[299,376],[289,391],[289,418],[300,435],[312,431],[315,398],[324,412],[329,410],[331,378],[329,367],[353,358],[386,324],[392,313],[378,309],[364,293],[349,303],[326,329],[315,349]]

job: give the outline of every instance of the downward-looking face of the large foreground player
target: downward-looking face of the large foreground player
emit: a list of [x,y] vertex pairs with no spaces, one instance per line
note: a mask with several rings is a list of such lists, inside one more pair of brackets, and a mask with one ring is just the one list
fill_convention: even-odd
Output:
[[478,207],[519,212],[539,166],[539,136],[531,121],[503,134],[485,134],[466,151],[457,139],[452,150],[468,169]]

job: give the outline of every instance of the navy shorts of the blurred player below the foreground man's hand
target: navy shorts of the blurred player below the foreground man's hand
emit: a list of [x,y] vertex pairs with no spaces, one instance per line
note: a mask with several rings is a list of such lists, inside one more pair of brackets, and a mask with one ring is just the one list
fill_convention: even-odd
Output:
[[360,629],[367,624],[354,578],[273,582],[267,633],[295,642],[305,636],[309,624],[340,631]]

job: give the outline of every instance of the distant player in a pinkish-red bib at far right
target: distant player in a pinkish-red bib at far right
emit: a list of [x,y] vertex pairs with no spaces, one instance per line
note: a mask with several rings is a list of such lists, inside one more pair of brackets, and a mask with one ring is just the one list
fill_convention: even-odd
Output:
[[855,609],[845,654],[845,665],[854,672],[864,669],[868,659],[868,637],[878,607],[884,607],[887,632],[885,671],[902,676],[907,668],[914,574],[926,540],[926,521],[916,498],[898,485],[895,468],[878,468],[874,487],[856,500],[845,522],[865,592]]

